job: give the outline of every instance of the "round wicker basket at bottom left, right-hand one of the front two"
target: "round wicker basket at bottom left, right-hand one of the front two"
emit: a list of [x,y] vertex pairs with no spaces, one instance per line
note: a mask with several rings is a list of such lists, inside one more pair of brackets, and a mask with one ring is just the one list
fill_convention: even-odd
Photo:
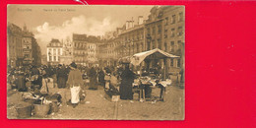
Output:
[[34,115],[37,117],[44,117],[49,113],[49,104],[34,104]]

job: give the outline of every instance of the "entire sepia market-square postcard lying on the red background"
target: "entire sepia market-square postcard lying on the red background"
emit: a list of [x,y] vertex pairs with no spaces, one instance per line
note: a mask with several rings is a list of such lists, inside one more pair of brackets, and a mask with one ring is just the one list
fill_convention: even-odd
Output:
[[8,5],[9,119],[184,120],[185,6]]

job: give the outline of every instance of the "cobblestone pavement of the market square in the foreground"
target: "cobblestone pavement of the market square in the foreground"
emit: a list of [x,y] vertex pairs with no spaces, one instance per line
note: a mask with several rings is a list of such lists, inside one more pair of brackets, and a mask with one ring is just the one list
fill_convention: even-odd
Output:
[[[118,119],[118,120],[183,120],[184,89],[176,86],[166,88],[164,101],[119,100],[110,101],[102,88],[96,91],[86,90],[85,103],[77,107],[62,105],[58,112],[44,119]],[[20,94],[21,95],[21,94]],[[13,103],[19,102],[21,96],[8,97],[8,118],[17,118]],[[153,96],[160,95],[160,89],[153,89]],[[16,96],[19,96],[15,98]],[[33,119],[32,117],[31,119]]]

